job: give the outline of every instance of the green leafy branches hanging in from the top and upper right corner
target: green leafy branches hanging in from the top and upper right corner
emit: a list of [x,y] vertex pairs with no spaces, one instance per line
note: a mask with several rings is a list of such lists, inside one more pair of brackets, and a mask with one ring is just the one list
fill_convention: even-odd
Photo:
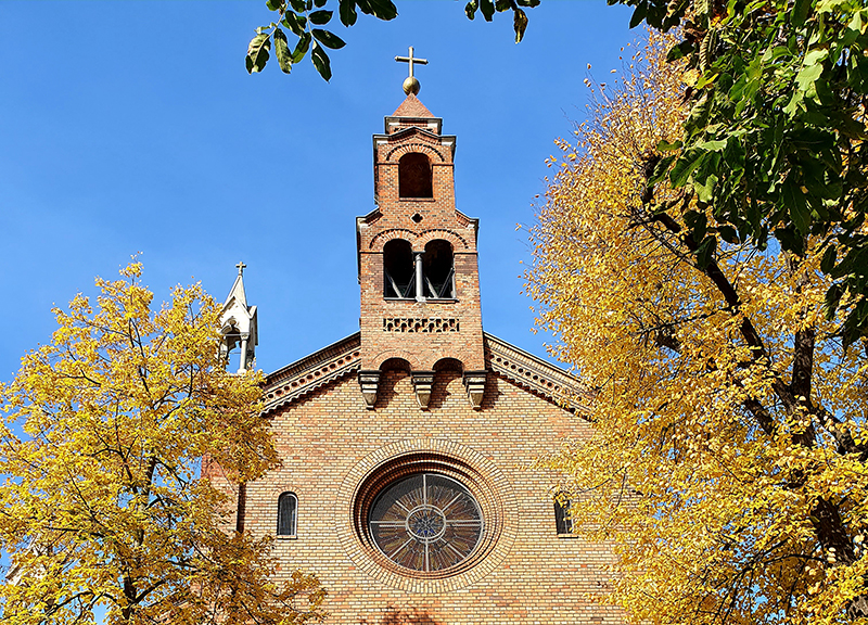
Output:
[[[868,349],[868,8],[864,0],[607,0],[635,7],[630,26],[643,21],[660,31],[678,28],[669,59],[685,58],[690,68],[686,92],[689,114],[671,149],[656,163],[653,180],[691,190],[709,206],[723,230],[687,228],[704,263],[722,243],[769,240],[803,255],[806,235],[824,238],[821,270],[831,280],[826,292],[831,318],[842,299],[856,301],[841,318],[845,343],[861,337]],[[265,67],[273,35],[281,68],[289,73],[310,48],[327,80],[326,48],[342,48],[327,24],[334,11],[327,0],[268,0],[278,13],[257,29],[247,50],[247,71]],[[486,21],[513,14],[515,41],[527,27],[523,8],[539,0],[472,0],[467,16]],[[352,26],[358,8],[393,20],[391,0],[339,0],[341,22]],[[290,52],[283,24],[298,37]],[[653,197],[653,195],[649,195]],[[682,205],[654,203],[653,212],[680,218]]]

